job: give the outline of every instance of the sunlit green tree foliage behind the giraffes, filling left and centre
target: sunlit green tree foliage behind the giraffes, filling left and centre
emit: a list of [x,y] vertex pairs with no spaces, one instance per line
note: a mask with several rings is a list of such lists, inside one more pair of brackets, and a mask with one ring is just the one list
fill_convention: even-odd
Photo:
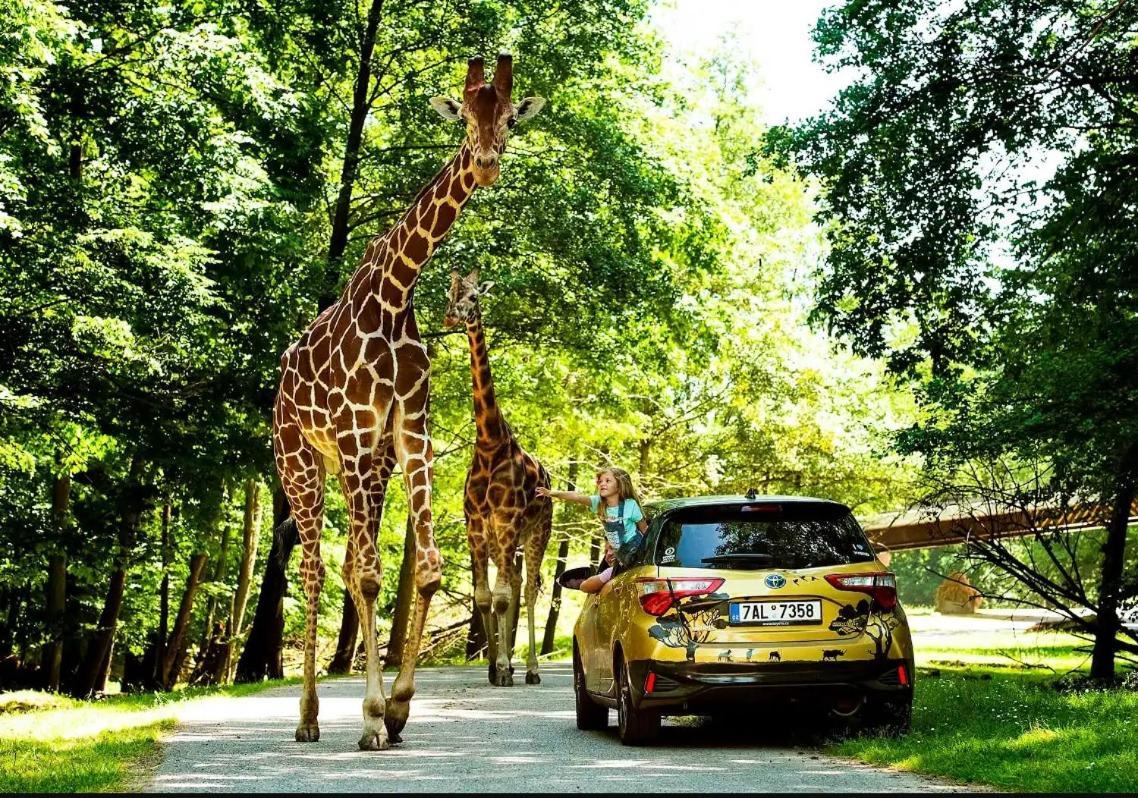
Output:
[[[434,336],[450,269],[479,266],[495,281],[484,304],[490,359],[522,444],[559,483],[576,459],[583,485],[592,467],[617,462],[651,495],[754,486],[866,512],[905,497],[912,463],[885,444],[910,403],[880,365],[806,330],[810,201],[764,154],[743,89],[750,66],[729,43],[693,66],[691,84],[670,85],[641,0],[3,2],[0,612],[19,625],[3,630],[0,655],[39,661],[52,634],[46,566],[60,554],[67,667],[119,568],[119,655],[152,640],[164,575],[173,616],[192,554],[211,559],[190,639],[204,635],[208,599],[224,614],[241,556],[239,486],[275,479],[279,355],[457,146],[428,98],[455,94],[465,59],[495,50],[514,56],[516,94],[550,102],[511,139],[502,179],[476,194],[415,298]],[[346,170],[371,8],[381,17],[366,124]],[[445,562],[432,612],[450,619],[469,612],[470,375],[461,337],[430,342]],[[64,477],[71,504],[56,519]],[[380,529],[381,608],[402,558],[399,482]],[[339,623],[347,524],[329,487],[322,641]],[[271,520],[266,511],[261,563]],[[574,556],[596,534],[589,520],[559,524]],[[226,577],[215,582],[226,533]],[[288,597],[284,612],[295,639],[302,602]]]

